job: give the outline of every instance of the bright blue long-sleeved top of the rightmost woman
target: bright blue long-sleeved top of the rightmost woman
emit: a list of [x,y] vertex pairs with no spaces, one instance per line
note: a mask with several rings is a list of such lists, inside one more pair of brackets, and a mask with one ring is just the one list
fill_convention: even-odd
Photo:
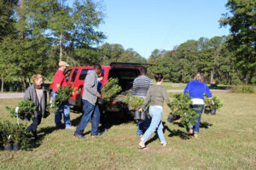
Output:
[[207,94],[208,98],[212,98],[212,93],[207,87],[207,84],[199,80],[190,81],[183,93],[188,93],[192,99],[204,99],[204,94]]

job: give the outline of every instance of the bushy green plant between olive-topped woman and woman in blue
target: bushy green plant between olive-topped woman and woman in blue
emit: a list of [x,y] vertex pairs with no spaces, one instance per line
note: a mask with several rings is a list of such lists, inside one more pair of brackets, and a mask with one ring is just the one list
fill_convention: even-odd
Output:
[[167,104],[171,109],[171,115],[180,116],[180,122],[184,127],[193,126],[198,113],[191,109],[191,98],[189,94],[174,94],[172,102]]

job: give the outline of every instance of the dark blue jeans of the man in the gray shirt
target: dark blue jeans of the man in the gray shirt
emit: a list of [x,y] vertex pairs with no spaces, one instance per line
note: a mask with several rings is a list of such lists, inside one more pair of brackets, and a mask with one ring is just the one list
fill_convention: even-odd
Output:
[[76,133],[82,134],[84,132],[84,128],[87,126],[88,122],[90,121],[91,117],[91,135],[97,135],[98,134],[98,127],[100,123],[100,110],[99,106],[92,105],[87,100],[83,101],[83,107],[84,107],[84,115],[81,118],[81,121],[79,123],[79,127],[76,130]]

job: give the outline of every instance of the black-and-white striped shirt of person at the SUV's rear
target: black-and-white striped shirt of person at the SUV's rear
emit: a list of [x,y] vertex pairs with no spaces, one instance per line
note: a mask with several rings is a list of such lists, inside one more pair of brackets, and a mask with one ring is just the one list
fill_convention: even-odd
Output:
[[131,90],[131,95],[137,95],[140,97],[146,97],[148,88],[152,86],[152,80],[146,76],[139,76],[134,79]]

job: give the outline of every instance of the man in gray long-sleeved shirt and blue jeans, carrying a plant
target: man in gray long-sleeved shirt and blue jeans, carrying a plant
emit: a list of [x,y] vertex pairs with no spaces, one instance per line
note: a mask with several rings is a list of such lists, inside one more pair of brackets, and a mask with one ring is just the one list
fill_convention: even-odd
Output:
[[102,98],[102,95],[97,91],[97,75],[102,72],[101,65],[94,65],[92,71],[88,71],[87,76],[84,80],[84,93],[82,96],[82,102],[84,107],[84,115],[79,123],[79,127],[76,132],[73,134],[74,137],[84,138],[82,133],[84,128],[87,126],[91,117],[91,136],[102,135],[98,133],[98,127],[100,122],[100,110],[99,106],[96,103],[97,98]]

